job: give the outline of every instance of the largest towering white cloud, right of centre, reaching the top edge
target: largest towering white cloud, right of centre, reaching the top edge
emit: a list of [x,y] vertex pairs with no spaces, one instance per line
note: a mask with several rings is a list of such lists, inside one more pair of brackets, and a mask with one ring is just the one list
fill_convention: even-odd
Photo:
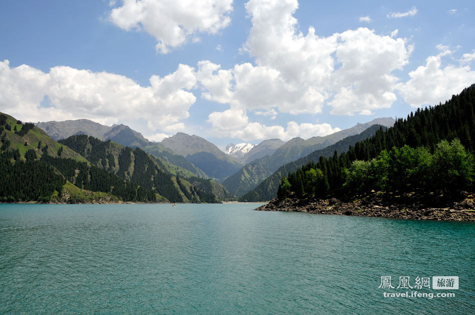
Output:
[[253,24],[246,49],[257,65],[277,70],[279,80],[294,90],[306,89],[318,96],[313,107],[295,103],[288,112],[318,113],[332,96],[329,104],[335,114],[389,107],[398,80],[391,73],[408,63],[411,46],[402,38],[381,36],[367,28],[320,37],[309,27],[304,35],[292,16],[297,7],[295,0],[251,0],[246,4]]

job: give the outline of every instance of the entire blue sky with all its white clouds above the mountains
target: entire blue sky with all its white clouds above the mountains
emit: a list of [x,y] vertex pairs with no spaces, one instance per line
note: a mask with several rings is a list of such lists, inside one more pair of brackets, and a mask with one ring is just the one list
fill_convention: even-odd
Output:
[[1,1],[0,111],[224,147],[405,117],[475,83],[473,1],[335,3]]

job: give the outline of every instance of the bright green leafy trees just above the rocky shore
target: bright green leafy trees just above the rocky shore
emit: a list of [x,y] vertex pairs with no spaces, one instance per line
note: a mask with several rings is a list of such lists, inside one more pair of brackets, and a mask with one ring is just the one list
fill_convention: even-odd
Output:
[[[298,198],[354,198],[371,192],[420,194],[472,189],[473,155],[458,139],[440,141],[431,153],[426,147],[382,150],[369,160],[355,160],[350,164],[335,155],[329,164],[337,165],[336,180],[329,180],[325,163],[309,163],[283,177],[278,198],[294,194]],[[323,169],[323,171],[322,171]],[[331,185],[330,185],[331,183]],[[337,186],[336,186],[337,185]],[[331,187],[331,189],[330,189]]]

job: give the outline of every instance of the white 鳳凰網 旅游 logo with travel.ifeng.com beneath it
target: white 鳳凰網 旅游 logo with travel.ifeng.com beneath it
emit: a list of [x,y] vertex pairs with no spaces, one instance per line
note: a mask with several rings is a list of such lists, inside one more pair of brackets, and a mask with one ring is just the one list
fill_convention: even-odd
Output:
[[458,290],[458,276],[417,276],[412,279],[410,276],[399,276],[398,280],[397,277],[381,276],[378,289],[388,290],[383,292],[384,298],[453,298],[455,293],[433,293],[430,290]]

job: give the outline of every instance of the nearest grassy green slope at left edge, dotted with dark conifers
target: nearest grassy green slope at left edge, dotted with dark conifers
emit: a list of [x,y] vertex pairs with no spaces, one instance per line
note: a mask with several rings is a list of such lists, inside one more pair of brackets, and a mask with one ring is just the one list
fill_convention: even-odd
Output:
[[[0,201],[105,203],[120,201],[108,192],[79,189],[43,157],[90,168],[82,156],[44,131],[0,113]],[[42,161],[40,161],[40,158]]]

